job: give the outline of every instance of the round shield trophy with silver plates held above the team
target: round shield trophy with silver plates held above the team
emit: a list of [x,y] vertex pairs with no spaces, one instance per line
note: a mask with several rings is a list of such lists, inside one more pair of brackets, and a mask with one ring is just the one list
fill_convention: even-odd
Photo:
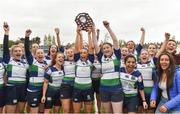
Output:
[[88,31],[88,27],[93,25],[93,20],[88,13],[79,13],[75,18],[75,22],[84,31]]

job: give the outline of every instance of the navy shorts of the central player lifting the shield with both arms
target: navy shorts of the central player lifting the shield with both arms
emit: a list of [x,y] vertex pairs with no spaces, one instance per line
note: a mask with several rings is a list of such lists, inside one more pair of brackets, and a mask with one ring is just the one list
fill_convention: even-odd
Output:
[[73,89],[74,102],[90,102],[94,100],[94,93],[92,89]]

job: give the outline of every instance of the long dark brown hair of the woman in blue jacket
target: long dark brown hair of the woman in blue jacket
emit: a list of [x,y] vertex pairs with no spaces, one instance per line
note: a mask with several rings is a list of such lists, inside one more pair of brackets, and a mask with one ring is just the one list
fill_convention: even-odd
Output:
[[167,76],[167,87],[170,88],[173,85],[173,79],[174,79],[174,71],[175,71],[175,63],[174,63],[174,59],[172,57],[172,55],[168,52],[164,52],[162,54],[160,54],[158,61],[157,61],[157,78],[158,78],[158,82],[161,80],[162,78],[162,73],[163,70],[161,68],[160,65],[160,59],[163,55],[167,55],[169,57],[169,67],[166,71],[166,76]]

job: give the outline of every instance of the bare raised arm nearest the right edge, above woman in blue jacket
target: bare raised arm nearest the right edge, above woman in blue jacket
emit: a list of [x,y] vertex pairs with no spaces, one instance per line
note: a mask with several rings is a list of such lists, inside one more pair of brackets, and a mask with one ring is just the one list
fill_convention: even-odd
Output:
[[155,55],[156,58],[158,58],[159,55],[165,50],[169,38],[170,38],[170,34],[169,33],[165,33],[165,40],[164,40],[163,44],[161,45],[160,50],[156,53],[156,55]]

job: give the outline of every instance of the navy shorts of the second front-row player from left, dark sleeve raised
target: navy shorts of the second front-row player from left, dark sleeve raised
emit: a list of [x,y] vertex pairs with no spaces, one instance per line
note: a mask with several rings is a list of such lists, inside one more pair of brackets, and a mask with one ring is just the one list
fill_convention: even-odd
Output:
[[27,91],[27,102],[30,107],[38,107],[41,102],[42,91],[29,92]]

